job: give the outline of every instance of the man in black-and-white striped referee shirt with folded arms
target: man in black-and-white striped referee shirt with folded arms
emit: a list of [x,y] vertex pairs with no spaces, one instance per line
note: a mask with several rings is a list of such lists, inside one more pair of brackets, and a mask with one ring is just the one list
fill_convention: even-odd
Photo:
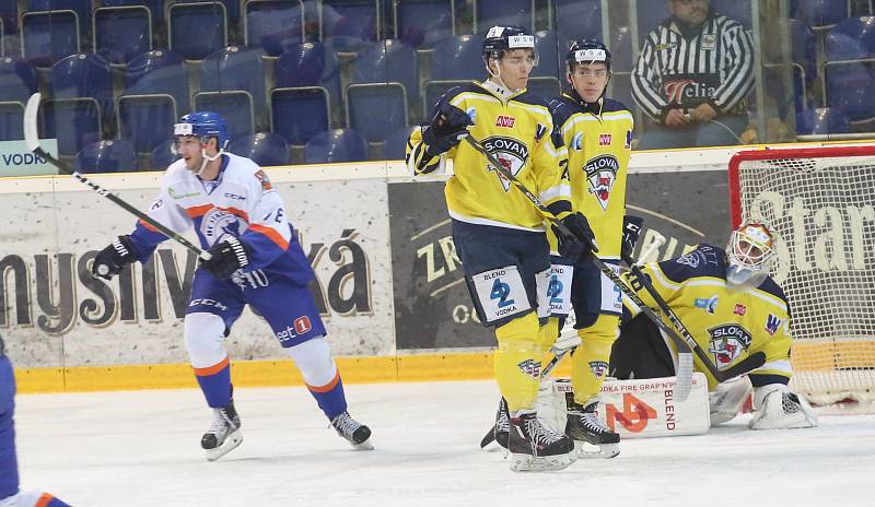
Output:
[[632,96],[650,117],[638,149],[739,144],[754,86],[750,36],[708,0],[668,0],[668,10],[632,71]]

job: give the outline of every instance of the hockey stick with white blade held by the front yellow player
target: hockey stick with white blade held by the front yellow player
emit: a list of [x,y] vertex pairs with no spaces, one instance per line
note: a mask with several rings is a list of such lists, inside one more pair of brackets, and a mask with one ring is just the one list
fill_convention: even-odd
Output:
[[[540,202],[540,199],[538,199],[537,196],[532,193],[532,191],[527,189],[526,186],[523,185],[523,182],[520,181],[516,178],[516,176],[513,175],[513,173],[511,173],[495,158],[495,155],[493,155],[492,153],[489,152],[489,150],[483,148],[483,145],[480,144],[479,141],[474,139],[471,134],[465,135],[465,140],[468,142],[468,144],[470,144],[475,150],[480,152],[480,154],[482,154],[486,157],[489,164],[492,167],[494,167],[494,169],[501,177],[510,181],[511,185],[513,185],[517,190],[523,192],[523,194],[529,201],[532,201],[532,203],[541,212],[544,217],[547,219],[553,226],[556,226],[556,228],[559,231],[560,234],[562,234],[562,236],[565,236],[567,238],[575,237],[574,234],[565,226],[565,224],[563,224],[559,219],[557,219],[553,212],[550,211],[546,205],[544,205],[542,202]],[[590,246],[594,247],[592,241],[590,243]],[[672,341],[675,342],[675,349],[678,351],[675,399],[677,401],[685,401],[687,397],[689,397],[690,390],[692,389],[692,353],[690,353],[690,350],[692,350],[693,346],[697,346],[696,341],[690,340],[691,343],[686,342],[682,338],[680,338],[677,334],[677,332],[674,329],[666,326],[666,323],[663,322],[660,316],[656,315],[656,313],[653,311],[650,307],[648,307],[648,305],[645,305],[644,302],[641,300],[638,294],[634,291],[632,291],[629,286],[627,286],[626,283],[623,283],[623,281],[620,279],[620,276],[617,273],[615,273],[614,270],[610,269],[607,264],[605,264],[605,262],[602,261],[602,259],[599,259],[594,255],[590,256],[590,258],[592,259],[596,268],[598,268],[598,270],[602,271],[605,274],[605,276],[608,278],[608,280],[614,282],[614,284],[617,285],[617,287],[626,295],[626,297],[628,297],[635,305],[638,305],[638,307],[641,308],[641,311],[649,319],[651,319],[656,326],[658,326],[660,329],[663,330],[666,333],[666,335],[668,335],[672,339]],[[687,345],[686,346],[687,352],[681,352],[685,349],[684,346],[685,343]]]

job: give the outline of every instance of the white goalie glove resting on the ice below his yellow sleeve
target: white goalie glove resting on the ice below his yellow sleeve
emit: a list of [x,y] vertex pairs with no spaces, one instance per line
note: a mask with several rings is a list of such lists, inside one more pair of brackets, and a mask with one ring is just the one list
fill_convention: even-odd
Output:
[[754,418],[750,429],[784,429],[818,426],[817,414],[805,398],[783,384],[769,384],[754,392]]

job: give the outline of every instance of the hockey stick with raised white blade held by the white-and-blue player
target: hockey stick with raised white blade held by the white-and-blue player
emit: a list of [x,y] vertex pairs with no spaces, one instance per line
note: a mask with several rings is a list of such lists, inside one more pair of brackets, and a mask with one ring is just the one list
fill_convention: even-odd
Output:
[[[27,106],[24,108],[24,140],[27,143],[27,150],[31,150],[35,155],[45,158],[46,162],[48,162],[49,164],[51,164],[55,167],[57,167],[58,169],[60,169],[61,173],[68,174],[70,176],[74,177],[75,179],[78,179],[82,184],[86,185],[89,188],[91,188],[95,192],[97,192],[101,196],[105,197],[106,199],[109,199],[110,201],[115,202],[116,204],[118,204],[119,207],[125,209],[125,211],[133,214],[138,219],[140,219],[143,222],[145,222],[147,224],[151,225],[152,227],[158,229],[158,232],[160,232],[164,236],[167,236],[167,238],[173,239],[174,241],[178,243],[179,245],[186,247],[189,251],[196,254],[201,260],[209,260],[210,259],[210,254],[209,252],[206,252],[206,251],[201,250],[200,248],[198,248],[195,244],[192,244],[188,239],[186,239],[183,236],[174,233],[173,231],[171,231],[170,228],[167,228],[166,226],[164,226],[160,222],[155,222],[155,220],[150,217],[148,214],[145,214],[142,211],[138,210],[137,208],[133,208],[132,205],[128,204],[126,201],[124,201],[121,198],[119,198],[115,193],[113,193],[109,190],[101,187],[100,185],[95,184],[91,179],[82,176],[82,173],[71,168],[69,165],[65,164],[63,162],[61,162],[61,161],[55,158],[54,156],[49,155],[48,153],[46,153],[39,146],[39,134],[37,132],[37,125],[36,125],[36,115],[37,115],[37,111],[39,110],[39,99],[40,99],[40,97],[42,97],[42,94],[39,94],[39,93],[35,93],[35,94],[31,95],[31,98],[27,99]],[[106,272],[103,272],[104,270],[101,270],[100,274],[104,274],[105,275],[105,274],[109,273],[108,267],[101,266],[101,268],[105,269]]]

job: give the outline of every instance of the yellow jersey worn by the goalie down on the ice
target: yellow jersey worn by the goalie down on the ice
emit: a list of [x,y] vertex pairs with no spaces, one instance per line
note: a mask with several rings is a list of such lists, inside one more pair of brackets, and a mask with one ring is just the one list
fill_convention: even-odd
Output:
[[[761,351],[766,354],[766,364],[749,374],[751,382],[755,386],[788,384],[793,372],[786,297],[771,278],[756,288],[728,288],[725,259],[723,249],[701,244],[677,259],[650,262],[642,271],[718,369],[728,368]],[[635,283],[629,273],[623,276],[658,315],[658,307],[646,288]],[[623,303],[632,315],[638,313],[626,297]],[[667,319],[666,323],[669,323]],[[672,340],[666,339],[666,343],[675,352]],[[709,389],[713,390],[718,381],[699,358],[693,357],[696,370],[708,377]]]

